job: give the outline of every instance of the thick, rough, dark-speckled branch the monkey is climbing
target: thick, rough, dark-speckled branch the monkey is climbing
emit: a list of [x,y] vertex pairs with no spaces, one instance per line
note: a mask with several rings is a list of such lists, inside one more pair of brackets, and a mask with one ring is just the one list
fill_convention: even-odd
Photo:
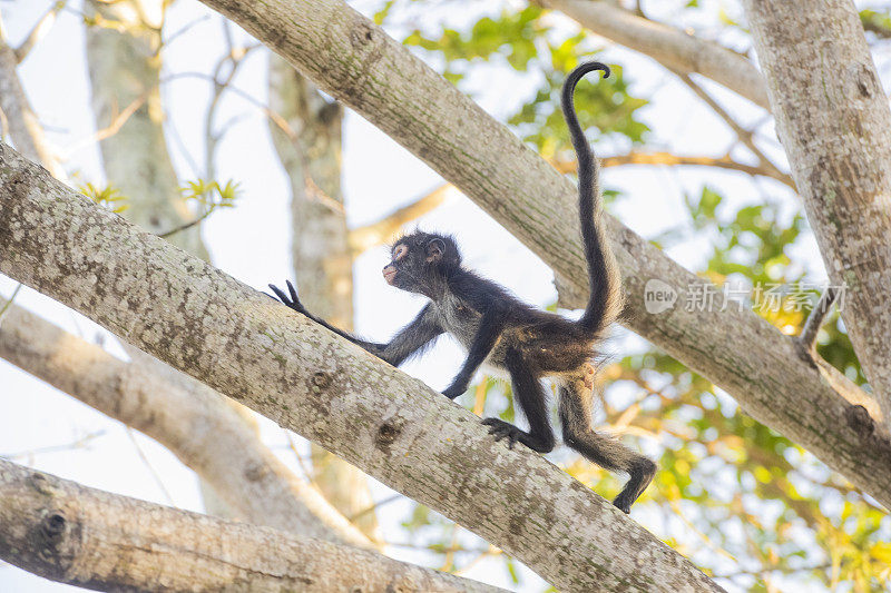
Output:
[[[566,591],[718,591],[525,447],[0,145],[0,273],[461,523]],[[51,248],[48,248],[51,246]]]

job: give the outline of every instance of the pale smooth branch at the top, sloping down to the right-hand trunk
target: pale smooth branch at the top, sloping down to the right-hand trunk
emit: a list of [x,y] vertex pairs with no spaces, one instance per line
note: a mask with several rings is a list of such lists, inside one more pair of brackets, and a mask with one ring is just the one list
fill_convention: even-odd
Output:
[[667,24],[631,14],[610,2],[538,0],[595,33],[649,56],[682,72],[697,72],[770,109],[764,79],[751,61],[713,41],[697,39]]

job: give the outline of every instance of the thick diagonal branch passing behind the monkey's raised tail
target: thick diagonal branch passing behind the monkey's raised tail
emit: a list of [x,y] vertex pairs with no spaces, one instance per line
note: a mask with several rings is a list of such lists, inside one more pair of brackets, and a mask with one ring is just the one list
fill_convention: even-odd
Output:
[[[554,268],[568,305],[584,306],[588,281],[574,184],[451,83],[339,0],[202,1],[464,191]],[[891,444],[877,436],[869,414],[799,358],[789,336],[727,306],[714,285],[614,218],[604,223],[623,273],[625,325],[891,507]],[[653,279],[676,295],[670,310],[647,312]],[[709,310],[684,306],[704,291],[718,293]]]

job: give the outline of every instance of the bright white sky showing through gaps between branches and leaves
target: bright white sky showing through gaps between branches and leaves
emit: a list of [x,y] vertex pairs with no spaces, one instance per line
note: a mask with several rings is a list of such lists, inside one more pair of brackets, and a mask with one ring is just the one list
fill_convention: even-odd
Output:
[[[17,0],[0,2],[9,37],[18,43],[32,23],[50,6],[48,0]],[[80,8],[72,1],[71,7]],[[363,0],[358,8],[365,10],[375,6]],[[499,6],[497,2],[488,2]],[[368,13],[368,11],[366,11]],[[438,18],[452,21],[471,16],[440,11],[427,14],[424,24],[433,26]],[[186,34],[177,38],[164,50],[166,75],[184,71],[209,71],[221,55],[221,17],[195,0],[179,0],[168,14],[167,36],[187,23],[202,19]],[[568,21],[566,21],[568,22]],[[244,38],[244,33],[241,33]],[[398,34],[398,33],[396,33]],[[730,40],[734,42],[734,40]],[[88,137],[94,129],[89,109],[89,89],[85,63],[85,38],[77,14],[66,11],[50,34],[41,41],[20,68],[29,98],[50,132],[50,138],[60,149],[74,146]],[[625,66],[626,76],[636,81],[634,90],[640,96],[650,96],[658,89],[657,102],[646,108],[646,120],[658,135],[653,136],[648,148],[669,148],[682,154],[709,154],[719,156],[732,141],[730,131],[695,100],[678,83],[653,62],[637,55],[609,49],[603,59]],[[242,69],[235,85],[265,102],[264,52],[255,52]],[[468,88],[477,91],[474,97],[493,116],[503,120],[511,110],[526,100],[535,81],[507,71],[500,65],[487,66],[477,72]],[[170,122],[192,152],[193,159],[203,161],[200,129],[207,106],[208,83],[204,80],[179,79],[164,88],[165,107]],[[734,112],[744,123],[754,122],[761,111],[730,93],[709,86],[718,98],[730,100]],[[242,198],[237,208],[214,214],[204,224],[204,238],[210,248],[216,266],[239,280],[257,288],[267,283],[281,283],[292,276],[288,261],[290,236],[287,223],[287,188],[272,150],[267,127],[262,113],[246,101],[229,95],[218,121],[229,116],[249,112],[251,117],[237,123],[224,140],[217,161],[222,180],[232,178],[241,182]],[[187,159],[179,145],[168,139],[182,179],[194,179]],[[621,151],[608,142],[598,146],[604,155]],[[773,151],[775,152],[775,150]],[[85,179],[101,181],[98,150],[85,148],[71,155],[66,162],[69,171],[80,170]],[[371,221],[382,214],[437,187],[441,180],[425,165],[409,155],[365,120],[350,112],[344,126],[344,191],[351,225]],[[681,215],[683,191],[698,196],[707,181],[722,191],[733,204],[761,201],[763,196],[773,199],[787,197],[786,190],[770,180],[756,185],[744,176],[706,172],[702,169],[663,170],[652,168],[607,169],[604,174],[607,187],[621,188],[626,197],[613,209],[629,227],[652,236],[668,227],[684,224]],[[789,202],[787,213],[794,206]],[[454,233],[462,246],[467,263],[489,277],[509,287],[521,298],[541,306],[556,299],[550,270],[523,248],[499,225],[460,195],[452,196],[437,211],[420,221],[427,229]],[[814,279],[821,279],[815,245],[807,238],[800,241],[793,257],[815,270]],[[703,239],[693,239],[672,249],[673,257],[682,264],[695,266],[704,256]],[[372,250],[359,258],[355,266],[356,327],[360,333],[384,338],[420,308],[417,297],[388,287],[380,269],[384,263],[381,249]],[[8,297],[16,283],[0,278],[0,295]],[[25,288],[17,303],[45,316],[67,329],[94,339],[104,330],[49,298]],[[114,339],[106,345],[115,354]],[[635,339],[617,339],[616,352],[639,348]],[[434,388],[444,387],[461,362],[460,350],[451,343],[441,340],[435,355],[405,366],[405,370],[423,378]],[[119,423],[61,394],[18,368],[0,362],[0,455],[9,456],[52,445],[66,445],[86,435],[98,436],[88,444],[67,451],[31,453],[14,456],[18,463],[76,480],[102,490],[155,501],[173,502],[176,506],[202,510],[194,474],[179,464],[165,448],[149,438],[134,433],[151,466],[161,476],[172,494],[168,501],[154,481],[151,473],[139,461],[134,441]],[[283,458],[294,467],[293,458],[284,449],[281,429],[267,423],[264,437]],[[556,456],[559,458],[560,453]],[[382,485],[374,486],[376,498],[390,492]],[[407,506],[401,503],[388,506],[381,513],[385,533],[394,540],[404,540],[393,523],[404,516]],[[635,515],[646,524],[646,517]],[[418,553],[393,550],[398,557],[422,560]],[[500,561],[482,563],[469,576],[508,586]],[[55,591],[70,589],[41,580],[18,569],[0,566],[0,591]],[[541,590],[540,581],[527,576],[526,589]]]

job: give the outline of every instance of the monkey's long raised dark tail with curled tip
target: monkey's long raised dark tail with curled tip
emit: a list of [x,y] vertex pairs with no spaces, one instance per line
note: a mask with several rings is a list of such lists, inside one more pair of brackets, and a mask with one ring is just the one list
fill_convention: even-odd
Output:
[[618,267],[604,236],[600,166],[578,122],[572,100],[572,92],[578,81],[594,70],[601,70],[604,78],[609,77],[609,67],[600,62],[582,63],[569,73],[564,82],[562,110],[578,156],[578,209],[590,283],[588,306],[578,325],[593,334],[599,334],[618,317],[621,309],[621,291]]

